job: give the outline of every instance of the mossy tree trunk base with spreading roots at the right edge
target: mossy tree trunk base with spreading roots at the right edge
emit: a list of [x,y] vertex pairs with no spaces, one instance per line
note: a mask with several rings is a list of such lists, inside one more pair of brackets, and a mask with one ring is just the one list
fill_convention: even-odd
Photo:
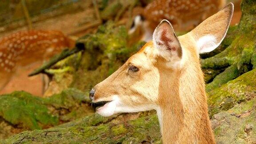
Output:
[[230,28],[224,40],[224,49],[215,56],[201,60],[204,69],[223,69],[206,85],[206,91],[226,84],[230,80],[256,67],[256,1],[243,0],[240,23]]

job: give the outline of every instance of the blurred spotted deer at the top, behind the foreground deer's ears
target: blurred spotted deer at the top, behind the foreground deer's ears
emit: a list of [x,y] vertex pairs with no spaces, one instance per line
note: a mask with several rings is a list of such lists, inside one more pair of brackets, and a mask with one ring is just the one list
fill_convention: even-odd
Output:
[[226,0],[153,0],[134,19],[136,29],[143,32],[142,40],[152,40],[152,34],[161,20],[168,20],[177,31],[188,31],[200,24],[207,17],[218,12]]

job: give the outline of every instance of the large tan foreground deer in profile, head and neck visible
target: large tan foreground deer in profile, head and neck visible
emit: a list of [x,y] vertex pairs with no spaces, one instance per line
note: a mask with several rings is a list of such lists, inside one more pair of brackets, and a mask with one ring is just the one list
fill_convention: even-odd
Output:
[[101,104],[96,112],[112,116],[155,109],[164,144],[214,144],[199,54],[219,46],[233,10],[230,3],[179,37],[162,20],[152,41],[90,91],[92,103]]

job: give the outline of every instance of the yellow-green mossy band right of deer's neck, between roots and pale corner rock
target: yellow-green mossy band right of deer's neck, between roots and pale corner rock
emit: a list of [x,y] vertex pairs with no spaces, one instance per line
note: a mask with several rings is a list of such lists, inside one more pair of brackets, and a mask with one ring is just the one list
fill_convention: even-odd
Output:
[[256,70],[252,70],[208,92],[210,117],[221,110],[228,110],[235,104],[250,100],[256,96],[256,80],[252,78],[255,75]]

